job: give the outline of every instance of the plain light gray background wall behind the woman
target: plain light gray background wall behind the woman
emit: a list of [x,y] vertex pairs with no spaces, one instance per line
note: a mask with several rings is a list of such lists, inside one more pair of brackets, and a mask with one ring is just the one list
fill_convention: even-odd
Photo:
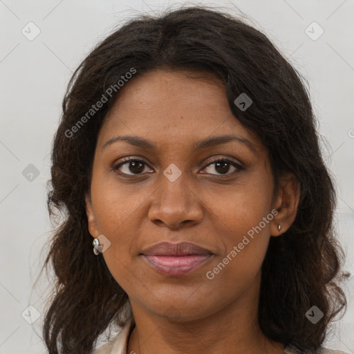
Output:
[[[228,9],[237,6],[308,80],[324,156],[337,183],[335,217],[348,254],[345,269],[353,274],[354,1],[200,3]],[[0,354],[46,352],[40,337],[41,314],[52,274],[44,273],[35,290],[32,286],[50,236],[46,211],[48,154],[71,73],[93,45],[125,19],[180,4],[152,0],[0,0]],[[30,21],[35,25],[28,25]],[[37,28],[40,33],[32,39]],[[324,33],[319,36],[322,29]],[[333,326],[326,346],[354,353],[353,275],[344,290],[348,310]]]

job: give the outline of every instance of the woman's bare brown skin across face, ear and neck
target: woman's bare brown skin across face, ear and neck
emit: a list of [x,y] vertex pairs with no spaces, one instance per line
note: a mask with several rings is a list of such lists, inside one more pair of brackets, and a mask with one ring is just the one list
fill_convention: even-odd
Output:
[[[239,141],[193,149],[200,140],[226,134],[249,140],[254,151]],[[145,138],[156,151],[124,141],[102,148],[115,136]],[[140,174],[129,162],[113,170],[127,156],[146,163]],[[218,158],[244,168],[217,168],[212,161]],[[174,182],[163,174],[172,163],[182,173]],[[295,220],[298,202],[291,174],[274,191],[268,151],[232,115],[215,77],[152,71],[130,80],[100,130],[86,197],[91,235],[111,242],[97,257],[104,257],[129,295],[136,327],[127,353],[281,354],[283,344],[268,340],[257,322],[261,264],[270,237]],[[206,272],[272,209],[278,211],[272,221],[207,279]],[[192,241],[214,255],[187,274],[163,275],[139,255],[160,241]]]

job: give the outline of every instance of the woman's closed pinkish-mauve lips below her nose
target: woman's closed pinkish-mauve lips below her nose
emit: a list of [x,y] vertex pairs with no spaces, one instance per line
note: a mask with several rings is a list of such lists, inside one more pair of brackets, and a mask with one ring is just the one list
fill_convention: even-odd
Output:
[[143,250],[141,255],[151,267],[169,276],[192,272],[213,256],[206,248],[191,242],[158,243]]

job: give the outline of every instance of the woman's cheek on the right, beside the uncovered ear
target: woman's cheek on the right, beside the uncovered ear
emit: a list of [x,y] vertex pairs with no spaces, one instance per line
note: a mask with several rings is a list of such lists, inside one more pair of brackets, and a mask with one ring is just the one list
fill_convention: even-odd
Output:
[[239,282],[241,288],[254,279],[268,249],[271,206],[271,185],[261,178],[230,190],[227,195],[214,196],[212,208],[218,220],[218,241],[223,254],[216,257],[209,277],[223,288]]

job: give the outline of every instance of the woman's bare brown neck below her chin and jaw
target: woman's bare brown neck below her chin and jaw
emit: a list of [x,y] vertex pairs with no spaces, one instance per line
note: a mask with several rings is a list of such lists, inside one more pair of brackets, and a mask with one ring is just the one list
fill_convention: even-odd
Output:
[[[257,289],[255,289],[257,293]],[[249,292],[247,295],[250,295]],[[136,322],[127,353],[282,354],[284,345],[267,339],[258,325],[258,299],[237,299],[212,315],[172,321],[147,311],[135,301]]]

